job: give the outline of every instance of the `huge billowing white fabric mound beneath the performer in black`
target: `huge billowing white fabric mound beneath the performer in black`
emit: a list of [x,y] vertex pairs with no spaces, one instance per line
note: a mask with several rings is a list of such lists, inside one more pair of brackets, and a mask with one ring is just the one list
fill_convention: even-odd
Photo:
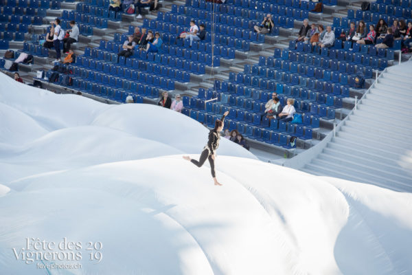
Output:
[[[0,83],[0,274],[412,274],[410,193],[260,162],[224,138],[214,186],[209,164],[182,159],[208,133],[185,115]],[[27,238],[66,238],[81,259],[22,250]]]

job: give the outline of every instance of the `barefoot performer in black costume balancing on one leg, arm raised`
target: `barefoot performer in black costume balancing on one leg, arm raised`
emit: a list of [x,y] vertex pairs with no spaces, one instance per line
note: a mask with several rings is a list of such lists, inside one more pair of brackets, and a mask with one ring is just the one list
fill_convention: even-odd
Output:
[[188,155],[183,156],[183,159],[192,162],[194,165],[198,167],[203,166],[206,159],[209,159],[211,177],[213,177],[214,184],[216,186],[221,186],[222,184],[220,184],[216,179],[216,172],[214,170],[214,160],[216,159],[216,150],[219,147],[220,132],[223,129],[223,126],[225,124],[225,117],[228,113],[229,111],[226,111],[220,120],[216,120],[214,129],[210,130],[209,132],[209,140],[207,141],[207,145],[203,148],[199,161],[191,159]]

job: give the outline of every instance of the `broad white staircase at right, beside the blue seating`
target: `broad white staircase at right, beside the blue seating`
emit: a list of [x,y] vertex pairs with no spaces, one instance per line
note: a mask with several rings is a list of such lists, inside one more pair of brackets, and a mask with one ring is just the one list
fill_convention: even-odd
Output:
[[412,61],[387,68],[323,152],[301,170],[412,192]]

